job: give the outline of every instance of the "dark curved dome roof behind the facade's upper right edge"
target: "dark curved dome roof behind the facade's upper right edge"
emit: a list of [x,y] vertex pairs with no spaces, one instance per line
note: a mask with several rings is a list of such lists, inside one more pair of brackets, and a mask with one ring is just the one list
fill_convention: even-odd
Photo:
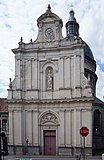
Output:
[[83,41],[83,43],[85,45],[85,47],[84,47],[85,56],[94,60],[94,56],[93,56],[93,53],[92,53],[90,47],[88,46],[88,44],[86,42]]

